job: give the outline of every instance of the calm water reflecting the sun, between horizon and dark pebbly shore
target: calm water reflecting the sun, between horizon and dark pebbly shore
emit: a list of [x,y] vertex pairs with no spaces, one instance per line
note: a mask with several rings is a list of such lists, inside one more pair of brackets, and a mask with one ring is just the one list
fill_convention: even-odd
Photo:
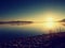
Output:
[[65,32],[64,22],[42,22],[29,25],[0,25],[0,43],[15,37],[41,35],[43,33]]

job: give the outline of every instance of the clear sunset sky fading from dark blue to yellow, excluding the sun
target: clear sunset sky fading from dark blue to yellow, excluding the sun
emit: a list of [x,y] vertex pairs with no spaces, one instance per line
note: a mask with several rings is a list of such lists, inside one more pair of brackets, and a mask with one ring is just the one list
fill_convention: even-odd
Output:
[[65,18],[65,1],[57,0],[0,0],[1,20],[46,21]]

